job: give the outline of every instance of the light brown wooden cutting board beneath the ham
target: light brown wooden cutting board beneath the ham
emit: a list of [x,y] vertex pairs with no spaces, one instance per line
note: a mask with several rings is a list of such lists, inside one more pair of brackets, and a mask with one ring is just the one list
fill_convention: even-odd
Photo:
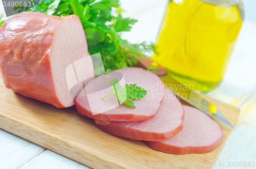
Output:
[[[223,141],[207,154],[166,154],[147,147],[142,141],[100,131],[93,119],[79,114],[74,106],[58,109],[25,98],[5,88],[2,80],[0,91],[0,128],[93,168],[152,168],[150,166],[165,162],[174,166],[168,168],[178,168],[179,162],[189,163],[190,166],[209,163],[209,166],[214,163],[224,144]],[[202,96],[216,105],[234,125],[239,109]],[[217,123],[223,130],[225,140],[231,128]],[[184,163],[183,167],[191,168],[189,164]]]

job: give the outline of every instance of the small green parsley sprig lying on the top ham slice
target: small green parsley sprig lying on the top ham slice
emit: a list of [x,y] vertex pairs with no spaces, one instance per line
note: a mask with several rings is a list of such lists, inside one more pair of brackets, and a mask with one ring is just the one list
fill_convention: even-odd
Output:
[[136,108],[134,106],[134,103],[132,102],[132,99],[140,100],[144,98],[144,96],[146,95],[146,90],[141,87],[138,87],[137,84],[130,84],[130,85],[125,84],[123,89],[121,89],[122,86],[120,85],[117,79],[111,80],[109,84],[112,87],[113,92],[109,95],[104,96],[104,98],[101,98],[101,100],[115,94],[116,99],[118,101],[122,101],[127,105],[132,106],[133,108]]

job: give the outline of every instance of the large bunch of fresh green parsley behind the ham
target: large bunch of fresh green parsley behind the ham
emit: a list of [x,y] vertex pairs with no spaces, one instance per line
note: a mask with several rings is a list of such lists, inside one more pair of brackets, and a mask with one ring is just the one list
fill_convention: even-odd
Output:
[[27,11],[56,16],[77,15],[86,34],[89,53],[101,54],[106,73],[134,66],[136,56],[156,52],[153,43],[130,44],[120,37],[121,32],[129,32],[138,20],[122,17],[119,0],[41,0]]

